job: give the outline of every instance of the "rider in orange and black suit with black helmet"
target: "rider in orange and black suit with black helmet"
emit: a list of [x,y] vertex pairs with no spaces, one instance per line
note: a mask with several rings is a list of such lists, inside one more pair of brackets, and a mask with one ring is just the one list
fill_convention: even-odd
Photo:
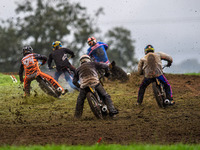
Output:
[[[44,65],[47,61],[47,57],[33,53],[33,48],[31,46],[23,47],[23,58],[21,60],[21,65],[19,69],[19,78],[21,83],[24,82],[25,96],[30,96],[30,84],[33,80],[37,80],[37,76],[41,76],[47,79],[54,87],[58,90],[58,92],[64,92],[64,89],[60,86],[60,84],[54,80],[51,76],[41,72],[38,64],[38,60],[42,60],[42,64]],[[23,72],[25,70],[25,78],[23,79]]]

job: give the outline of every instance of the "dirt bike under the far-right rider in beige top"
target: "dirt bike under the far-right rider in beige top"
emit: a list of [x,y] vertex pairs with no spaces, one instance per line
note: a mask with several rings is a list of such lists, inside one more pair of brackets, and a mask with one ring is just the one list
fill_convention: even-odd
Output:
[[[163,67],[163,69],[166,66]],[[158,104],[158,106],[160,108],[165,108],[167,105],[167,103],[165,103],[166,100],[166,92],[164,89],[164,85],[163,83],[161,83],[157,78],[155,79],[155,81],[152,83],[152,88],[153,88],[153,93],[154,96],[156,98],[156,102]]]

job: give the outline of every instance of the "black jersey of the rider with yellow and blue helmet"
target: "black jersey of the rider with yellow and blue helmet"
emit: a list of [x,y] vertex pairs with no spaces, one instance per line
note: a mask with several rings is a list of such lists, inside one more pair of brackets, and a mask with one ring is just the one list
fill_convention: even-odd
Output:
[[67,54],[70,54],[74,57],[74,52],[67,48],[56,49],[49,55],[48,67],[51,67],[52,60],[56,64],[57,70],[62,70],[65,67],[69,67],[71,64],[68,61]]

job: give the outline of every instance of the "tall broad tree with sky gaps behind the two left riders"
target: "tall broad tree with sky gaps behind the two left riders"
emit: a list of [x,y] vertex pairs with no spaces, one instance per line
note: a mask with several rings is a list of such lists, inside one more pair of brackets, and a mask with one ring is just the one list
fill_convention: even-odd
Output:
[[55,40],[78,54],[88,36],[98,31],[92,18],[87,15],[86,8],[79,3],[69,3],[68,0],[53,3],[37,0],[36,8],[31,0],[26,0],[18,4],[16,12],[27,14],[17,21],[24,40],[30,41],[35,52],[46,55]]

